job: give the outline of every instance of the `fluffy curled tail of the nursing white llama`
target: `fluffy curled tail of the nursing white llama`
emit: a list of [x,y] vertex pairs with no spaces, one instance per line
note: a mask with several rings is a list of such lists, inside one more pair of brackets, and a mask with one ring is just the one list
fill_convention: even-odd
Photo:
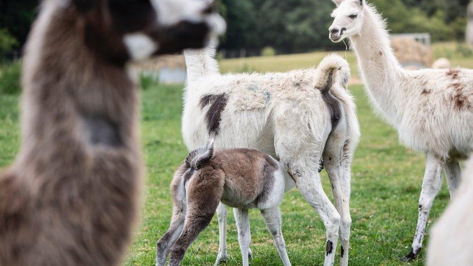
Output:
[[318,65],[319,77],[316,86],[322,93],[328,92],[334,84],[347,89],[350,79],[350,67],[348,62],[338,54],[326,56]]

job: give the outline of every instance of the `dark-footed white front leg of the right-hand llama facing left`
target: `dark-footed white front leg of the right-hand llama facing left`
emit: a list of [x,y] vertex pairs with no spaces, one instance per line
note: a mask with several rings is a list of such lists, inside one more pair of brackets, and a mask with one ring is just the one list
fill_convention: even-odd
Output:
[[419,198],[419,218],[415,230],[414,241],[410,253],[401,258],[402,262],[414,260],[422,248],[426,223],[432,203],[442,186],[442,160],[432,154],[427,154],[426,174]]

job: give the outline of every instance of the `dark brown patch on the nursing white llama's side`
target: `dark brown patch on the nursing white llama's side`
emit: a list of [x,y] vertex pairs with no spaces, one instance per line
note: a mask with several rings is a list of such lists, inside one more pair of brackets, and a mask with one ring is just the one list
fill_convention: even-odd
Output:
[[200,107],[204,109],[210,104],[205,121],[207,122],[207,130],[209,135],[218,135],[220,130],[221,113],[225,110],[228,102],[227,94],[207,94],[200,99]]

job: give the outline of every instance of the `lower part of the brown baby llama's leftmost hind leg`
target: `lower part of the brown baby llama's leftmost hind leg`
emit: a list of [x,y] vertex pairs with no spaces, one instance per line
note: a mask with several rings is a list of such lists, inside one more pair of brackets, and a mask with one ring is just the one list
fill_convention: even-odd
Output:
[[168,231],[158,240],[156,245],[156,266],[164,266],[166,257],[171,251],[171,247],[181,234],[184,227],[184,220],[186,217],[184,204],[175,204],[173,207],[173,218]]

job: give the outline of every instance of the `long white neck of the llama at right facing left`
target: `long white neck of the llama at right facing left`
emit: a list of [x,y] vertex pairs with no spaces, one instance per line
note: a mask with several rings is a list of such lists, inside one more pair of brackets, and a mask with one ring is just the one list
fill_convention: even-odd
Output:
[[388,122],[397,124],[402,110],[399,84],[403,69],[394,57],[385,23],[374,7],[364,7],[362,31],[350,39],[371,100]]

